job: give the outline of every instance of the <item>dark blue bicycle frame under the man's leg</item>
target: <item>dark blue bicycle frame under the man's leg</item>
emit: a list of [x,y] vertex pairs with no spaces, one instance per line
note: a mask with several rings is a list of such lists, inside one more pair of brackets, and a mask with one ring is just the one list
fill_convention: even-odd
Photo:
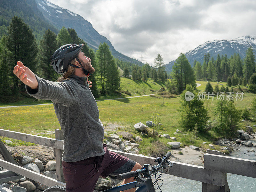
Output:
[[154,186],[153,186],[153,182],[151,179],[148,179],[147,181],[145,181],[145,183],[139,183],[137,181],[133,181],[131,183],[126,183],[124,185],[120,185],[118,187],[114,187],[111,189],[107,189],[105,191],[102,192],[120,192],[120,191],[124,191],[127,189],[132,189],[135,187],[139,187],[136,192],[156,192]]

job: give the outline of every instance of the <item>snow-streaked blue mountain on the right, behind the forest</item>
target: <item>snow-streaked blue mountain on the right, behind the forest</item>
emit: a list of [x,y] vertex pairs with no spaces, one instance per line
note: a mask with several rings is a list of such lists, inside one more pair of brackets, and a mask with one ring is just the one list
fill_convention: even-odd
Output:
[[[185,55],[190,65],[193,65],[194,60],[200,61],[203,64],[205,53],[210,53],[211,58],[213,57],[215,60],[218,54],[220,54],[220,56],[227,54],[229,58],[234,53],[239,53],[240,57],[244,58],[246,50],[250,46],[253,50],[256,50],[256,36],[242,36],[230,40],[207,41],[185,53]],[[165,65],[166,71],[172,71],[174,62],[175,60]]]

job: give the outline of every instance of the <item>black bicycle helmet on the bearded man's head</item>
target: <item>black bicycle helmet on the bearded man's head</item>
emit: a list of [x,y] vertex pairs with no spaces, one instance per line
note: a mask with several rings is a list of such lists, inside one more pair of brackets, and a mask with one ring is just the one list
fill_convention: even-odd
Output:
[[[77,58],[79,52],[83,49],[84,44],[66,44],[57,49],[52,57],[50,58],[52,68],[59,74],[66,73],[68,65],[74,67],[73,64],[69,63],[74,58]],[[80,61],[78,60],[80,63]],[[80,63],[81,65],[81,63]],[[82,65],[81,65],[82,66]],[[77,67],[77,66],[76,66]]]

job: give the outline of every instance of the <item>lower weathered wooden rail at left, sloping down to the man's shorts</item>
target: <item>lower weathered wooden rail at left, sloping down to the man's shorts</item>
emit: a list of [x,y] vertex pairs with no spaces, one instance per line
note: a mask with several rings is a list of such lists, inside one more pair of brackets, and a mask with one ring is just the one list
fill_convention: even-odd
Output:
[[23,176],[25,176],[29,179],[35,180],[39,183],[42,183],[46,186],[53,186],[53,185],[63,185],[63,186],[65,186],[65,183],[63,183],[61,181],[58,181],[56,179],[52,179],[50,177],[47,177],[45,175],[42,175],[42,174],[34,172],[34,171],[30,171],[26,168],[20,167],[19,165],[9,163],[9,162],[4,161],[2,159],[0,159],[0,166],[6,168],[8,170],[11,170],[12,172],[23,175]]

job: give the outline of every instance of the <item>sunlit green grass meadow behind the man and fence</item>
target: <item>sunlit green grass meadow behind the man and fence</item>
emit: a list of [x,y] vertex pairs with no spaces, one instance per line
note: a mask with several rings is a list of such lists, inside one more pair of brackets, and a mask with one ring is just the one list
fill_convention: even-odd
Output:
[[[197,87],[198,90],[203,91],[207,82],[200,81],[197,83],[201,84],[201,86]],[[214,87],[215,82],[211,83]],[[123,90],[126,91],[128,89],[128,91],[131,92],[131,96],[150,94],[152,93],[150,89],[158,90],[161,87],[160,84],[155,85],[151,83],[151,81],[148,81],[147,83],[136,83],[132,82],[132,80],[130,82],[130,79],[124,79],[124,81],[122,80],[121,85]],[[237,87],[234,88],[236,89]],[[137,93],[137,91],[139,93]],[[130,95],[127,95],[126,97],[129,96]],[[250,107],[251,101],[254,97],[255,94],[246,92],[243,100],[235,101],[235,104],[241,109]],[[132,133],[134,136],[141,136],[139,132],[133,128],[133,125],[138,122],[146,124],[146,121],[151,119],[152,112],[157,110],[162,116],[161,123],[163,124],[163,128],[160,130],[160,134],[169,134],[171,137],[174,137],[173,133],[176,131],[176,129],[181,130],[179,126],[180,114],[177,111],[180,106],[179,100],[179,96],[177,96],[177,98],[163,98],[157,94],[154,96],[130,99],[103,100],[98,101],[97,104],[100,111],[100,120],[104,125],[107,125],[108,123],[116,123],[124,126],[119,127],[117,130],[108,131],[109,134],[117,133],[119,131],[127,131]],[[205,100],[206,108],[210,111],[211,116],[216,101],[216,98],[214,98],[213,101]],[[252,122],[241,122],[240,126],[252,124]],[[60,129],[60,124],[57,120],[52,105],[24,106],[0,109],[0,128],[54,138],[53,131],[54,129]],[[182,143],[182,146],[192,144],[207,149],[209,148],[208,144],[213,143],[214,140],[220,138],[221,135],[210,131],[208,133],[198,135],[198,137],[195,138],[195,133],[183,132],[175,135],[175,137],[177,138],[177,141]],[[148,150],[152,149],[151,142],[154,141],[154,139],[145,136],[142,138],[144,141],[140,144],[140,153],[147,155]],[[2,138],[2,140],[4,139],[5,138]],[[165,144],[170,141],[165,138],[158,138],[157,140]],[[14,142],[14,146],[29,144],[18,140],[12,141]],[[203,145],[203,141],[206,141],[207,144]],[[216,146],[216,148],[220,149],[219,146]]]

